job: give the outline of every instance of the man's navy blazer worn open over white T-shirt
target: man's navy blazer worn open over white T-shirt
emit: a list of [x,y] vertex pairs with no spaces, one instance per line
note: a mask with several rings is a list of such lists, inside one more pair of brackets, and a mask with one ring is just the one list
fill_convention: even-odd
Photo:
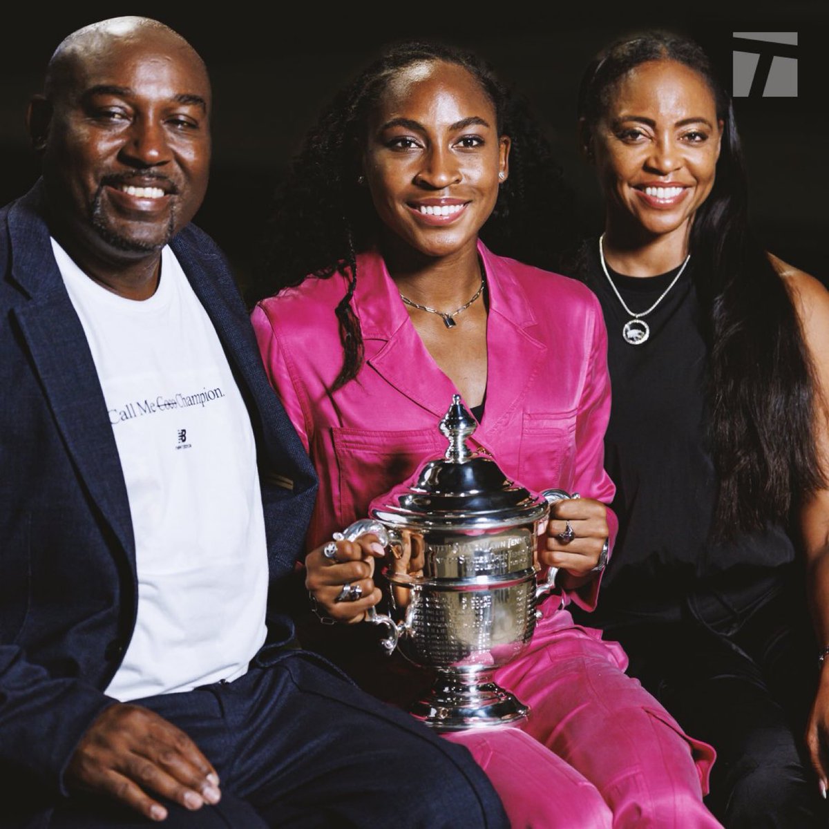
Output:
[[[273,588],[303,554],[313,467],[264,375],[221,251],[193,225],[171,246],[250,412]],[[0,269],[2,814],[24,789],[41,793],[41,806],[65,793],[78,740],[112,704],[103,690],[132,636],[138,586],[113,430],[52,255],[41,182],[0,211]]]

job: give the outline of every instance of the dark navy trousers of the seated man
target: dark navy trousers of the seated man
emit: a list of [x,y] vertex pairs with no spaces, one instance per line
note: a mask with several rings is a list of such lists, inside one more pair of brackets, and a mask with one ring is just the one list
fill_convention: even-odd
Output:
[[[272,663],[262,653],[257,661],[234,682],[136,701],[190,734],[221,778],[216,807],[187,812],[173,805],[160,826],[508,826],[466,749],[372,699],[318,657],[280,651]],[[137,829],[153,823],[99,800],[70,798],[39,825]]]

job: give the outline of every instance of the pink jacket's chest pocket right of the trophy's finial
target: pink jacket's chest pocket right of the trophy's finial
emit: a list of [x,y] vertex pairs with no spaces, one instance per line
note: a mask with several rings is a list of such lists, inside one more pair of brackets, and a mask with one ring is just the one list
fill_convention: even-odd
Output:
[[518,480],[531,489],[570,490],[575,473],[575,410],[525,412]]

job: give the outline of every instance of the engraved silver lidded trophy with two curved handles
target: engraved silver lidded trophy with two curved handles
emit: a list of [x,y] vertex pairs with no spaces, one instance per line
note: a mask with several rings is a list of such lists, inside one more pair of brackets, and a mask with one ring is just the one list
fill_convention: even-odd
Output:
[[423,463],[410,482],[371,503],[370,518],[335,536],[375,532],[385,546],[391,609],[372,608],[368,621],[387,628],[388,652],[399,647],[437,669],[410,710],[440,731],[514,725],[529,713],[492,674],[530,642],[536,606],[555,579],[551,568],[536,584],[538,523],[550,503],[578,497],[561,489],[536,495],[509,480],[492,457],[466,445],[477,425],[454,395],[439,424],[444,457]]

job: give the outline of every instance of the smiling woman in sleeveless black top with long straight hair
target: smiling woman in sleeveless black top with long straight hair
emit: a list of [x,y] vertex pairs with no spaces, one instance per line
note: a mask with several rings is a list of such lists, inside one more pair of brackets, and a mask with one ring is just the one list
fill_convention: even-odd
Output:
[[829,678],[803,564],[824,647],[829,295],[750,235],[730,100],[695,43],[610,46],[579,126],[606,199],[578,269],[608,327],[621,521],[591,621],[717,749],[726,827],[826,826]]

